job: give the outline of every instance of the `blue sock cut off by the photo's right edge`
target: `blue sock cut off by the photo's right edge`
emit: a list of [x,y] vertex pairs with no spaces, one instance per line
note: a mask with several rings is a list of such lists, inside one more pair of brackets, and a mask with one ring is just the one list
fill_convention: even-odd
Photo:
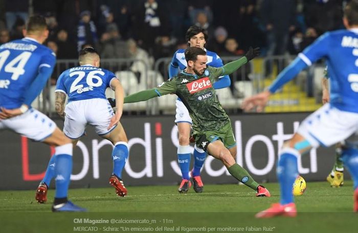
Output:
[[358,188],[358,150],[345,149],[342,151],[341,158],[353,179],[353,188],[355,190]]

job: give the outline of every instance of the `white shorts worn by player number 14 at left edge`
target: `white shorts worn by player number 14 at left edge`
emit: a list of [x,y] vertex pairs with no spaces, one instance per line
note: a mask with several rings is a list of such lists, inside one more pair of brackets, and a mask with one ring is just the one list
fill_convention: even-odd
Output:
[[16,117],[0,120],[0,130],[10,129],[39,142],[51,136],[56,127],[54,121],[34,108]]

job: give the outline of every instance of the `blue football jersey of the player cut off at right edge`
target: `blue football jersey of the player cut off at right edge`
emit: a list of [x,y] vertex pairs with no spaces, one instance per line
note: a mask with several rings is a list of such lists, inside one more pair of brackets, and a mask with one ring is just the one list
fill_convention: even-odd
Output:
[[330,104],[358,112],[358,30],[327,32],[299,57],[307,64],[325,58],[330,82]]

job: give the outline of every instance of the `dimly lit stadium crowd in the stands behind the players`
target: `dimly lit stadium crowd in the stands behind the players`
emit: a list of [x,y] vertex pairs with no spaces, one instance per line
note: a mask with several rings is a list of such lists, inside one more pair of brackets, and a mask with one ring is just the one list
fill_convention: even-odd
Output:
[[262,48],[263,56],[297,54],[322,33],[343,28],[345,3],[343,0],[0,0],[0,44],[23,36],[31,9],[46,16],[50,26],[47,45],[58,59],[76,59],[86,44],[100,51],[101,58],[170,57],[178,48],[187,46],[183,35],[191,25],[208,31],[206,48],[220,56],[242,55],[250,45]]

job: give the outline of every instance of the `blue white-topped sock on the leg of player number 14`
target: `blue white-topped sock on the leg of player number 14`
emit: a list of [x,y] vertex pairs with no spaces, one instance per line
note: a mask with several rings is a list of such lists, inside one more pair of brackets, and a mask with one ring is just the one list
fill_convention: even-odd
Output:
[[[72,145],[71,145],[72,146]],[[72,156],[69,154],[56,155],[56,194],[55,198],[67,197],[72,173]]]

